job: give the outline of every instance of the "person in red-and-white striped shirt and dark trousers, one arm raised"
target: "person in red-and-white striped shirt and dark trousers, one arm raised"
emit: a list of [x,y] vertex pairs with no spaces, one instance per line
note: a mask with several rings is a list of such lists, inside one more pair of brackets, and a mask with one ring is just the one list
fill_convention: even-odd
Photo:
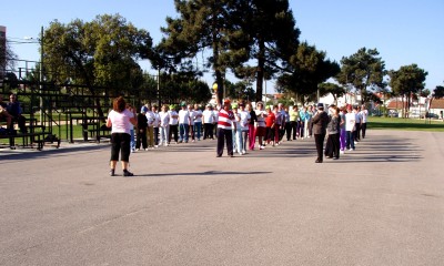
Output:
[[233,133],[236,130],[236,124],[234,123],[234,114],[230,110],[231,101],[225,99],[223,105],[220,105],[218,93],[215,93],[215,101],[218,102],[218,149],[216,156],[221,157],[223,154],[224,142],[226,142],[226,152],[230,157],[233,157]]

